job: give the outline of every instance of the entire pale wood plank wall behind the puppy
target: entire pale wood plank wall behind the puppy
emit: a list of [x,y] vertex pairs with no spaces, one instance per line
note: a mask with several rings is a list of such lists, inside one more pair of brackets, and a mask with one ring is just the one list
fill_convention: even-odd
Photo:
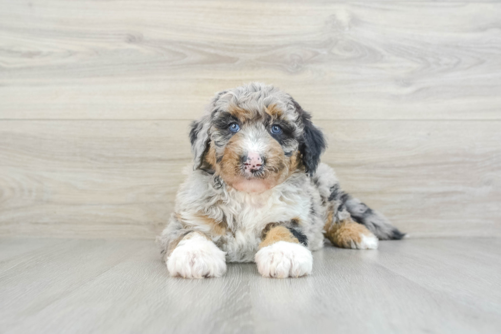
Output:
[[0,0],[0,235],[152,238],[188,124],[249,81],[415,237],[501,235],[501,3]]

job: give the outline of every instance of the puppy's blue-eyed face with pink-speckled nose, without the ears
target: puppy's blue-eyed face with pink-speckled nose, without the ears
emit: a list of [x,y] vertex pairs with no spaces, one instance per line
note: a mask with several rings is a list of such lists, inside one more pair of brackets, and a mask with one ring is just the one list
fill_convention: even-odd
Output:
[[277,105],[215,109],[206,162],[240,191],[263,192],[282,183],[303,167],[300,132],[292,116]]

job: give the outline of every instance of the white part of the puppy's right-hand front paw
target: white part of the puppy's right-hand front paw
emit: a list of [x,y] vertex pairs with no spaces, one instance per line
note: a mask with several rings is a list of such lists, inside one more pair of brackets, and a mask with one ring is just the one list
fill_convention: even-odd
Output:
[[299,243],[278,241],[261,248],[254,257],[258,272],[264,277],[299,277],[311,274],[313,257]]

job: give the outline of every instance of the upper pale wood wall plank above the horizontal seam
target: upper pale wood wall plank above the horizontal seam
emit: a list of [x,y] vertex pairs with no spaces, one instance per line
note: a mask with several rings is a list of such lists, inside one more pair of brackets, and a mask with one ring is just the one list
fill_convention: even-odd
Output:
[[0,119],[193,119],[273,83],[317,119],[501,119],[501,4],[0,0]]

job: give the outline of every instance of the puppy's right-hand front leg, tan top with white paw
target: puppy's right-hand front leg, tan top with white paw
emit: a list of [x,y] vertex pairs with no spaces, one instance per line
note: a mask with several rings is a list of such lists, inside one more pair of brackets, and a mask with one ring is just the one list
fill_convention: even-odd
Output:
[[[296,232],[297,233],[297,232]],[[299,277],[311,273],[311,252],[285,226],[269,229],[259,245],[255,261],[264,277]]]

